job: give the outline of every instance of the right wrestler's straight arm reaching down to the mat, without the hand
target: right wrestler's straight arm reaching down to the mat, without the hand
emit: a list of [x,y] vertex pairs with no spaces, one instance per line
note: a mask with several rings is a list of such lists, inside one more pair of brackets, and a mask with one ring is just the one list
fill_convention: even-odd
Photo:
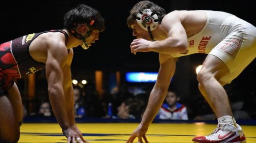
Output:
[[159,58],[160,69],[158,78],[150,93],[148,105],[140,123],[142,128],[147,128],[153,121],[155,115],[158,113],[175,71],[175,58],[170,58],[169,55],[165,54],[160,54]]

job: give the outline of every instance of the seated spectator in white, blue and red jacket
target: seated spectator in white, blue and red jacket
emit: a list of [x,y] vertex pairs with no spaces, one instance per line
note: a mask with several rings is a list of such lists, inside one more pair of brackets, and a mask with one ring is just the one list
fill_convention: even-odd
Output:
[[188,120],[185,105],[179,103],[180,97],[175,92],[168,91],[165,102],[160,108],[156,119]]

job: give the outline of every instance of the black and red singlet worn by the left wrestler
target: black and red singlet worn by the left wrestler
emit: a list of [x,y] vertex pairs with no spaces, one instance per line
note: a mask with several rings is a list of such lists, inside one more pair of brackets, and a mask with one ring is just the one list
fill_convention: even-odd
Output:
[[45,64],[37,62],[29,54],[29,45],[37,36],[46,32],[61,32],[65,35],[65,44],[68,34],[63,30],[51,30],[32,33],[16,38],[0,45],[0,97],[14,84],[14,79],[26,77],[45,68]]

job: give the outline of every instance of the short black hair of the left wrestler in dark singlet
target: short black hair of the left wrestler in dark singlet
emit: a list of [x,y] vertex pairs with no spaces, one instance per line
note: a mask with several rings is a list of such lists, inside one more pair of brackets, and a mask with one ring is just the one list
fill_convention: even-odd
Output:
[[84,4],[79,4],[64,15],[63,28],[71,30],[78,23],[87,23],[90,31],[98,30],[102,32],[105,30],[104,22],[104,18],[98,10]]

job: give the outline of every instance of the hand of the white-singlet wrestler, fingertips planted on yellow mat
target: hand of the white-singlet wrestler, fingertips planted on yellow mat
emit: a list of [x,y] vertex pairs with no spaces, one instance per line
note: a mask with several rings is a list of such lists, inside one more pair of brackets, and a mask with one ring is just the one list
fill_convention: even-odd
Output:
[[138,126],[135,131],[133,131],[133,133],[131,133],[129,139],[126,141],[127,143],[129,142],[133,142],[133,140],[138,137],[138,143],[143,143],[142,138],[144,139],[144,141],[146,143],[148,143],[148,139],[146,138],[146,133],[148,131],[148,127],[147,128],[142,128],[141,126]]

